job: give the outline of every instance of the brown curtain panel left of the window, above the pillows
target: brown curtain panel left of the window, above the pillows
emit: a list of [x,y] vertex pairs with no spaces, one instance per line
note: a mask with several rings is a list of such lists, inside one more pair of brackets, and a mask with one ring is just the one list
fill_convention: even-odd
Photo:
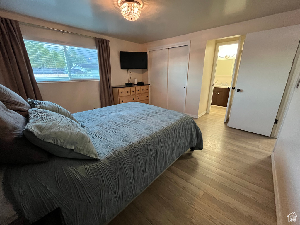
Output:
[[0,83],[22,98],[42,100],[17,20],[0,17]]

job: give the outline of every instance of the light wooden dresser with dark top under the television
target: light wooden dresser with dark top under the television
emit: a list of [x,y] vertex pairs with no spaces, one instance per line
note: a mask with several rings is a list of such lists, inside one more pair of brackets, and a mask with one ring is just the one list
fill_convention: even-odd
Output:
[[113,88],[114,104],[126,102],[142,102],[149,104],[149,84],[144,85],[116,85]]

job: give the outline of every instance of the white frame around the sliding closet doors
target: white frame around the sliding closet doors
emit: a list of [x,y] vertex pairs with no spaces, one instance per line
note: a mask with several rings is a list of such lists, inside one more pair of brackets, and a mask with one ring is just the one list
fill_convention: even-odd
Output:
[[[188,80],[188,69],[190,65],[190,41],[183,41],[179,43],[174,43],[174,44],[167,44],[167,45],[161,45],[161,46],[156,46],[156,47],[151,47],[147,48],[147,55],[148,55],[148,83],[150,84],[150,54],[149,52],[155,51],[155,50],[161,50],[161,49],[169,49],[169,48],[176,48],[176,47],[182,47],[182,46],[188,46],[188,54],[187,54],[187,76],[186,76],[186,81],[185,81],[185,102],[184,102],[184,112],[185,112],[185,106],[186,106],[186,99],[187,99],[187,80]],[[168,53],[169,54],[169,53]],[[168,65],[169,65],[169,55],[168,55]],[[169,73],[169,71],[168,71]],[[167,78],[168,82],[168,78]],[[151,84],[150,84],[151,86]],[[167,88],[168,88],[168,83],[167,83]],[[149,89],[149,95],[151,95],[151,88]],[[167,94],[167,99],[168,99],[168,94]],[[149,99],[149,103],[151,104],[151,100]]]

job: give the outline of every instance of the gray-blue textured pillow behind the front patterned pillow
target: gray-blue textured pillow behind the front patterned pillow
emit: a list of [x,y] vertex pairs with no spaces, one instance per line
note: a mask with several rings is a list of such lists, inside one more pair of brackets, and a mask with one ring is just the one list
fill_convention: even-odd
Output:
[[49,110],[54,113],[59,113],[63,116],[66,116],[67,118],[70,118],[71,120],[74,120],[75,122],[79,123],[68,110],[64,109],[63,107],[59,106],[58,104],[55,104],[55,103],[49,102],[49,101],[38,101],[38,100],[30,99],[30,98],[28,98],[27,101],[30,104],[31,108]]

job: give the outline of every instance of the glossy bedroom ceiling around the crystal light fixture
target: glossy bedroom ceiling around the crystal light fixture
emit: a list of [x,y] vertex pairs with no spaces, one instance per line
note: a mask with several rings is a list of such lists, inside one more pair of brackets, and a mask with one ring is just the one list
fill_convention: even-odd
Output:
[[137,21],[117,0],[0,0],[0,8],[136,43],[147,43],[300,8],[299,0],[144,0]]

